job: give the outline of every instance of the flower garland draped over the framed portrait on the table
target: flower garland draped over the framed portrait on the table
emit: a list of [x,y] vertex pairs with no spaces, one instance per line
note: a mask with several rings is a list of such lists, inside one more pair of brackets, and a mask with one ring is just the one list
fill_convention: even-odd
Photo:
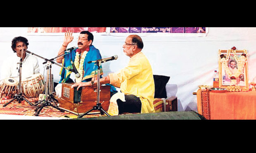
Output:
[[242,74],[244,63],[248,59],[248,57],[246,57],[245,50],[240,58],[237,57],[235,50],[232,50],[232,51],[234,53],[235,60],[237,61],[237,72],[235,72],[235,74],[232,74],[232,72],[228,68],[228,60],[230,58],[230,52],[231,52],[230,49],[227,51],[227,53],[228,53],[227,57],[225,57],[223,54],[220,55],[220,58],[221,58],[220,61],[222,63],[222,66],[224,67],[225,72],[227,73],[228,77],[230,77],[230,79],[231,79],[231,85],[235,85],[237,83],[236,78],[239,77],[240,74]]

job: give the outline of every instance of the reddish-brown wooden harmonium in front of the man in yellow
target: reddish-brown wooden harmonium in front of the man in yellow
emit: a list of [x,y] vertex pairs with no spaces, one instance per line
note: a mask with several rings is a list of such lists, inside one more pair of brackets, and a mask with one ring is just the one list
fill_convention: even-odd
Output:
[[[92,109],[97,104],[97,86],[71,88],[74,83],[62,83],[62,95],[59,101],[59,107],[76,115],[81,115]],[[110,86],[100,86],[99,102],[104,111],[109,109]],[[100,113],[99,110],[93,110],[89,114]]]

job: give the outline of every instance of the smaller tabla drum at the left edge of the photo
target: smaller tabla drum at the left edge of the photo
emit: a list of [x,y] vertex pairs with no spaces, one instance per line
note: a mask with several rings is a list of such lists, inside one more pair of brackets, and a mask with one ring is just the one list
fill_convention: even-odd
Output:
[[12,98],[17,93],[18,81],[14,78],[6,78],[0,83],[0,100],[3,97]]

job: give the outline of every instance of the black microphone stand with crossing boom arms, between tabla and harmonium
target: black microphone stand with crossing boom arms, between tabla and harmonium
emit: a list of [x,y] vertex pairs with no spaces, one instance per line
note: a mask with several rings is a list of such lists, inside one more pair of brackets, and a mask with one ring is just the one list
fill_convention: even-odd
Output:
[[[59,111],[61,111],[61,112],[64,112],[64,110],[63,109],[61,109],[61,108],[59,108],[58,107],[58,105],[56,104],[56,103],[58,103],[58,100],[56,100],[55,98],[54,98],[54,95],[52,94],[52,71],[51,71],[51,68],[52,68],[52,64],[55,64],[55,65],[58,65],[58,66],[60,66],[60,67],[63,67],[64,69],[66,69],[66,70],[69,70],[69,71],[71,71],[71,72],[74,72],[74,70],[71,70],[71,69],[69,69],[69,68],[67,68],[67,67],[64,67],[64,66],[62,66],[62,65],[59,65],[59,64],[57,64],[57,63],[55,63],[55,62],[53,62],[52,60],[54,60],[55,58],[53,58],[53,59],[51,59],[51,60],[48,60],[48,59],[46,59],[46,58],[43,58],[43,57],[41,57],[41,56],[38,56],[38,55],[36,55],[35,53],[31,53],[30,51],[26,51],[27,53],[30,53],[31,55],[35,55],[35,56],[37,56],[37,57],[39,57],[39,58],[42,58],[43,60],[45,60],[46,62],[44,62],[43,64],[45,64],[45,63],[47,63],[46,64],[46,69],[47,69],[47,79],[46,79],[46,85],[45,85],[45,100],[41,100],[41,101],[38,101],[37,103],[35,103],[33,106],[37,106],[38,104],[40,104],[40,105],[38,105],[37,107],[36,107],[36,109],[35,109],[35,111],[36,111],[36,113],[35,113],[35,116],[38,116],[39,115],[39,113],[40,113],[40,111],[43,109],[43,107],[47,107],[47,106],[52,106],[52,107],[54,107],[55,109],[58,109]],[[64,56],[65,54],[63,54],[62,56]],[[59,57],[59,56],[58,56]],[[49,89],[48,89],[49,88]],[[49,93],[48,93],[48,91],[49,91]],[[48,95],[49,94],[49,95]],[[52,104],[52,102],[53,102],[53,104]],[[56,102],[56,103],[55,103]]]

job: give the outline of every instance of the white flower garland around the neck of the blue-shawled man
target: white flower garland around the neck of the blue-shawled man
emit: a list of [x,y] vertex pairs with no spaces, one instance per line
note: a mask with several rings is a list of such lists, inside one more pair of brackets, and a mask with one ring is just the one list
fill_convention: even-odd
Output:
[[[78,50],[78,49],[77,49]],[[85,60],[85,56],[88,53],[89,49],[86,49],[84,52],[81,53],[81,51],[76,51],[76,57],[75,57],[75,61],[74,61],[74,65],[78,71],[78,73],[80,74],[79,78],[75,78],[76,82],[81,82],[83,79],[83,63]],[[80,57],[80,53],[81,53],[81,58],[79,60]]]

